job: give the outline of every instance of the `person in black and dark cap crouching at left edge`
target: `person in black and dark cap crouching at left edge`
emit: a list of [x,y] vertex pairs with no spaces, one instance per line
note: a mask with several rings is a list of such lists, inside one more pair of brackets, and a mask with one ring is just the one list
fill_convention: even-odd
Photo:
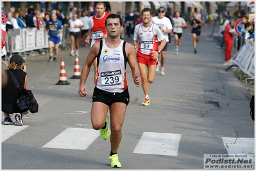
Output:
[[27,68],[24,65],[24,59],[19,55],[14,55],[10,58],[10,63],[8,64],[8,70],[5,70],[8,76],[8,84],[2,88],[2,112],[4,112],[4,124],[10,125],[13,124],[13,121],[10,116],[15,114],[14,118],[16,120],[16,126],[22,126],[22,115],[26,115],[30,112],[20,111],[16,106],[16,101],[21,96],[19,90],[15,86],[12,75],[17,78],[20,87],[24,87],[28,89],[28,76],[27,76]]

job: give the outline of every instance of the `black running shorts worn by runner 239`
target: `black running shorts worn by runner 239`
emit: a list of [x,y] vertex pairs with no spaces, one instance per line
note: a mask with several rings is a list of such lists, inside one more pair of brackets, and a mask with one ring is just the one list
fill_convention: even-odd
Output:
[[123,102],[128,105],[130,102],[130,94],[128,88],[126,88],[122,93],[110,93],[95,87],[92,94],[92,102],[96,101],[102,102],[108,106],[115,102]]

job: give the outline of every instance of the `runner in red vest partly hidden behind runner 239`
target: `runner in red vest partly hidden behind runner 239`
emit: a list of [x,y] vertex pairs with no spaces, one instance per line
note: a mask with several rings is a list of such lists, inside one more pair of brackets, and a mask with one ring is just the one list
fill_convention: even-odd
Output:
[[[104,38],[107,38],[107,31],[105,26],[105,20],[107,19],[109,13],[105,12],[106,4],[104,2],[96,3],[94,8],[96,11],[96,15],[92,15],[90,17],[90,29],[87,38],[85,39],[85,43],[87,45],[90,44],[90,47],[98,41],[101,41]],[[90,43],[90,37],[92,37],[92,42]],[[94,83],[96,84],[97,78],[97,59],[94,61]]]

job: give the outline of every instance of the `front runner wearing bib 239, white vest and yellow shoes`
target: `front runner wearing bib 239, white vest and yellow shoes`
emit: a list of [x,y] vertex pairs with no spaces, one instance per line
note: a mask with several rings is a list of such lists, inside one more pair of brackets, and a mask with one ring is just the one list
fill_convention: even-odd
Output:
[[[141,85],[139,69],[135,60],[135,52],[130,43],[120,39],[122,27],[121,18],[116,14],[111,14],[106,19],[107,38],[94,43],[87,56],[81,70],[80,88],[78,94],[82,97],[87,96],[85,83],[89,76],[90,66],[98,57],[98,81],[92,95],[92,109],[90,117],[92,128],[99,130],[101,138],[107,140],[110,137],[110,167],[121,168],[122,165],[117,155],[119,144],[122,138],[122,126],[124,123],[126,107],[130,101],[126,76],[126,61],[130,65],[132,78],[135,85]],[[114,31],[113,31],[114,30]],[[113,32],[112,32],[113,31]],[[101,47],[102,45],[102,47]],[[105,52],[113,59],[105,62]],[[116,53],[119,52],[118,55]],[[114,59],[115,56],[120,59]],[[112,75],[114,73],[116,75]],[[103,73],[106,77],[102,78]],[[107,74],[108,73],[108,74]],[[111,73],[111,74],[110,74]],[[116,80],[114,77],[118,77]],[[115,79],[115,82],[106,82],[106,79]],[[108,110],[110,113],[110,129],[108,128]],[[111,133],[110,133],[111,130]]]

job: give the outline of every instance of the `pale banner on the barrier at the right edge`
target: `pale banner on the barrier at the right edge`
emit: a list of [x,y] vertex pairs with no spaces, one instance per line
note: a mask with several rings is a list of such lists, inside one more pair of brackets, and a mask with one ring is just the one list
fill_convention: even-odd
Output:
[[243,47],[232,57],[231,62],[237,64],[244,73],[254,78],[254,54],[254,42],[250,43],[250,41],[247,40]]

